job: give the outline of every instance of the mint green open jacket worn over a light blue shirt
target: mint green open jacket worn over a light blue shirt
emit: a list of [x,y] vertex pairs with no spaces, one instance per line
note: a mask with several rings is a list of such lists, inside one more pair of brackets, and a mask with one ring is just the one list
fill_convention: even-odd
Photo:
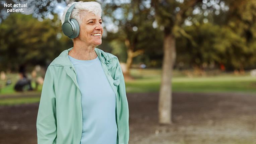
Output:
[[[81,92],[74,66],[68,58],[71,49],[63,51],[46,71],[37,117],[38,144],[80,144]],[[94,50],[116,93],[117,144],[128,144],[129,112],[120,63],[116,56],[97,48]]]

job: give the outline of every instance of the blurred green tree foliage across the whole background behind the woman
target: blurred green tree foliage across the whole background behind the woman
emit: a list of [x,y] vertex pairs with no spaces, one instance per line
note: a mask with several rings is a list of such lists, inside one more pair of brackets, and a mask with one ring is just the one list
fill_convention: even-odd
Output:
[[[35,13],[52,12],[57,2],[60,1],[38,1]],[[176,46],[174,60],[177,51],[176,65],[200,68],[205,63],[215,63],[241,71],[255,68],[255,3],[250,0],[103,1],[102,19],[107,36],[99,48],[117,55],[123,62],[129,59],[129,65],[135,58],[147,66],[159,66],[163,41],[171,34]],[[155,20],[157,28],[152,27]],[[72,41],[62,34],[56,15],[53,20],[40,22],[31,15],[12,13],[2,21],[0,30],[1,69],[17,70],[24,63],[44,65],[62,50],[72,47]]]

